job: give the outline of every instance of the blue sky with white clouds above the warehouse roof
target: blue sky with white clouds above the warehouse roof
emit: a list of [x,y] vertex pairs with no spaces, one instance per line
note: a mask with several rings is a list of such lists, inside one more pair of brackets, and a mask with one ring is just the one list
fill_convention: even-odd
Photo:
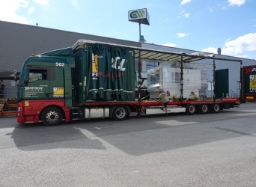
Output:
[[128,11],[142,8],[146,43],[256,59],[255,0],[8,0],[0,20],[138,41]]

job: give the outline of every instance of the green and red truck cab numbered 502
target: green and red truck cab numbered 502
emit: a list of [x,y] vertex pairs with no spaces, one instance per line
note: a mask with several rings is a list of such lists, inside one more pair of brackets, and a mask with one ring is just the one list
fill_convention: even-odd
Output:
[[[24,62],[17,94],[19,123],[43,120],[40,114],[47,105],[59,109],[72,105],[72,67],[74,59],[71,48],[31,56]],[[49,114],[49,117],[54,115]]]

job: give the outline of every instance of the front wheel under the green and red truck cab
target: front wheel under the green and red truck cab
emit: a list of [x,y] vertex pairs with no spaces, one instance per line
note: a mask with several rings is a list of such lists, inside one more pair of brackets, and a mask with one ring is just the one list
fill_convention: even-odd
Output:
[[41,114],[41,120],[45,126],[58,126],[61,124],[62,113],[59,108],[46,108]]

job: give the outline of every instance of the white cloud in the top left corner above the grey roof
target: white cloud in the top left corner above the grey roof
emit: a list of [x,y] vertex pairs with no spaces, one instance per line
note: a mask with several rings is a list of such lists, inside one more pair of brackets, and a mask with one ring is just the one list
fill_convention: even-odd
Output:
[[28,8],[28,1],[4,1],[4,3],[2,3],[0,6],[0,19],[7,22],[19,22],[24,24],[28,23],[28,19],[16,13],[19,8]]

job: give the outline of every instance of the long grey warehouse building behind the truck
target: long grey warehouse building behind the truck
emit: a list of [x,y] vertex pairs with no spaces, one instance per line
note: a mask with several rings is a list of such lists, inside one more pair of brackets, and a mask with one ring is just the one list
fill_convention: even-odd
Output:
[[[184,52],[192,54],[196,51],[189,49],[180,49],[168,46],[160,46],[150,43],[134,42],[128,40],[119,40],[109,37],[100,37],[91,34],[82,34],[71,31],[61,31],[52,28],[43,28],[33,25],[24,25],[13,22],[0,21],[0,72],[20,71],[22,64],[31,54],[38,55],[43,52],[49,52],[55,49],[61,49],[73,46],[79,39],[95,40],[104,43],[115,43],[126,46],[136,46],[147,49],[164,50],[168,52]],[[207,54],[209,55],[209,54]],[[214,54],[216,58],[228,58],[234,60],[242,60],[243,64],[233,61],[215,61],[216,70],[228,70],[229,91],[230,96],[240,96],[240,67],[255,65],[256,61],[246,58],[237,58],[227,55]],[[213,64],[213,61],[203,60],[201,64]],[[147,70],[152,65],[152,62],[144,62],[143,70]],[[156,62],[157,65],[157,62]],[[208,96],[213,94],[213,70],[211,67],[204,66],[208,71]],[[225,72],[227,73],[227,71]],[[16,97],[16,82],[5,79],[6,97]]]

